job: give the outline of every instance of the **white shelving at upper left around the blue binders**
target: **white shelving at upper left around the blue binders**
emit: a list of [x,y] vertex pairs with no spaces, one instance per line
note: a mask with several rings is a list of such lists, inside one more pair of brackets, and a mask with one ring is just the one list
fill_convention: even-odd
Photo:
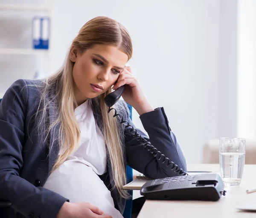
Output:
[[[4,71],[7,72],[7,75],[11,73],[11,75],[8,75],[7,78],[6,76],[2,75],[3,78],[1,78],[0,83],[0,98],[3,97],[4,93],[12,84],[12,82],[16,81],[18,78],[36,79],[36,77],[41,78],[48,76],[50,71],[49,69],[51,67],[51,49],[34,49],[33,47],[32,21],[34,17],[49,17],[51,22],[52,6],[54,0],[44,0],[38,2],[37,4],[33,4],[32,1],[29,3],[29,1],[22,0],[15,1],[17,4],[11,3],[9,0],[5,2],[6,3],[0,3],[0,15],[2,18],[1,26],[9,29],[13,28],[15,30],[15,28],[17,28],[18,22],[16,24],[16,22],[13,22],[13,20],[20,18],[20,22],[25,22],[24,27],[26,25],[28,26],[27,28],[24,28],[24,31],[23,29],[17,29],[19,32],[16,34],[15,32],[9,33],[12,34],[10,40],[15,40],[15,38],[20,40],[20,46],[15,46],[13,44],[11,44],[13,46],[9,46],[9,41],[8,43],[3,41],[3,45],[0,47],[0,58],[3,60],[0,66],[0,70],[2,70],[1,68],[3,67],[3,69],[5,69]],[[31,20],[31,22],[29,22],[29,20]],[[0,36],[0,38],[5,39],[6,32],[0,31]],[[51,41],[50,37],[51,25],[49,24],[49,42]],[[25,46],[26,44],[28,45],[27,47]],[[9,60],[8,58],[11,58],[10,60],[13,61],[4,61],[6,59]],[[32,58],[31,60],[33,61],[29,61],[28,58]],[[26,61],[26,63],[24,63],[24,61]]]

